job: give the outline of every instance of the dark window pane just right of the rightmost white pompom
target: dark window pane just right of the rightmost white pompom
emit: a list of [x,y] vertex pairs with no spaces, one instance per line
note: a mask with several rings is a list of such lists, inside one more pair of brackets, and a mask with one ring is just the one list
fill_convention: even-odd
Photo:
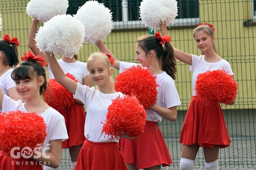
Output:
[[177,0],[178,16],[176,18],[198,18],[198,0]]

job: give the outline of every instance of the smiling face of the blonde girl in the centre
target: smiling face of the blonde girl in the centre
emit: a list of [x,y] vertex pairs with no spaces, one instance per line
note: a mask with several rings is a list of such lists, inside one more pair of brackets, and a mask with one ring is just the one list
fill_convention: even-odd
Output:
[[97,86],[110,84],[112,69],[108,68],[103,60],[95,58],[88,66],[90,78]]

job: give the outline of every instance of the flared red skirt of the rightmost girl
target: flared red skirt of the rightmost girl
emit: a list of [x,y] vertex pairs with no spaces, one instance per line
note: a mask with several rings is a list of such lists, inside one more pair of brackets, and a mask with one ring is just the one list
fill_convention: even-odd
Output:
[[180,143],[198,144],[202,148],[230,146],[223,112],[219,103],[203,106],[198,96],[193,96],[183,123]]

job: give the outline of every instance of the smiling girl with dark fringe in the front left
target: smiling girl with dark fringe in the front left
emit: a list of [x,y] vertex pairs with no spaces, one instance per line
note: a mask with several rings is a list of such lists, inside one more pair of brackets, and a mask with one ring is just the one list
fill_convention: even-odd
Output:
[[16,91],[25,102],[14,101],[0,90],[0,109],[1,112],[20,110],[27,113],[35,112],[42,116],[47,127],[47,137],[41,150],[48,147],[47,144],[50,144],[50,149],[46,153],[41,153],[39,158],[33,155],[28,159],[10,158],[0,152],[0,170],[40,170],[42,164],[45,165],[44,169],[57,168],[61,159],[61,142],[68,139],[65,120],[41,98],[47,88],[44,68],[34,59],[24,60],[14,68],[11,77],[15,81]]

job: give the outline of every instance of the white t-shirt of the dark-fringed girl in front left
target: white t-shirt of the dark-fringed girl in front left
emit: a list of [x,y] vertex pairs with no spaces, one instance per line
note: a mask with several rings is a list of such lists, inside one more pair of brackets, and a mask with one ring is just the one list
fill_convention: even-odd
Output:
[[[2,112],[7,111],[22,111],[27,112],[21,100],[14,101],[10,97],[4,95],[2,103]],[[40,114],[43,117],[46,124],[46,139],[42,148],[49,143],[50,140],[62,139],[62,141],[68,139],[68,132],[65,125],[64,117],[56,111],[54,108],[48,108],[44,113]]]

